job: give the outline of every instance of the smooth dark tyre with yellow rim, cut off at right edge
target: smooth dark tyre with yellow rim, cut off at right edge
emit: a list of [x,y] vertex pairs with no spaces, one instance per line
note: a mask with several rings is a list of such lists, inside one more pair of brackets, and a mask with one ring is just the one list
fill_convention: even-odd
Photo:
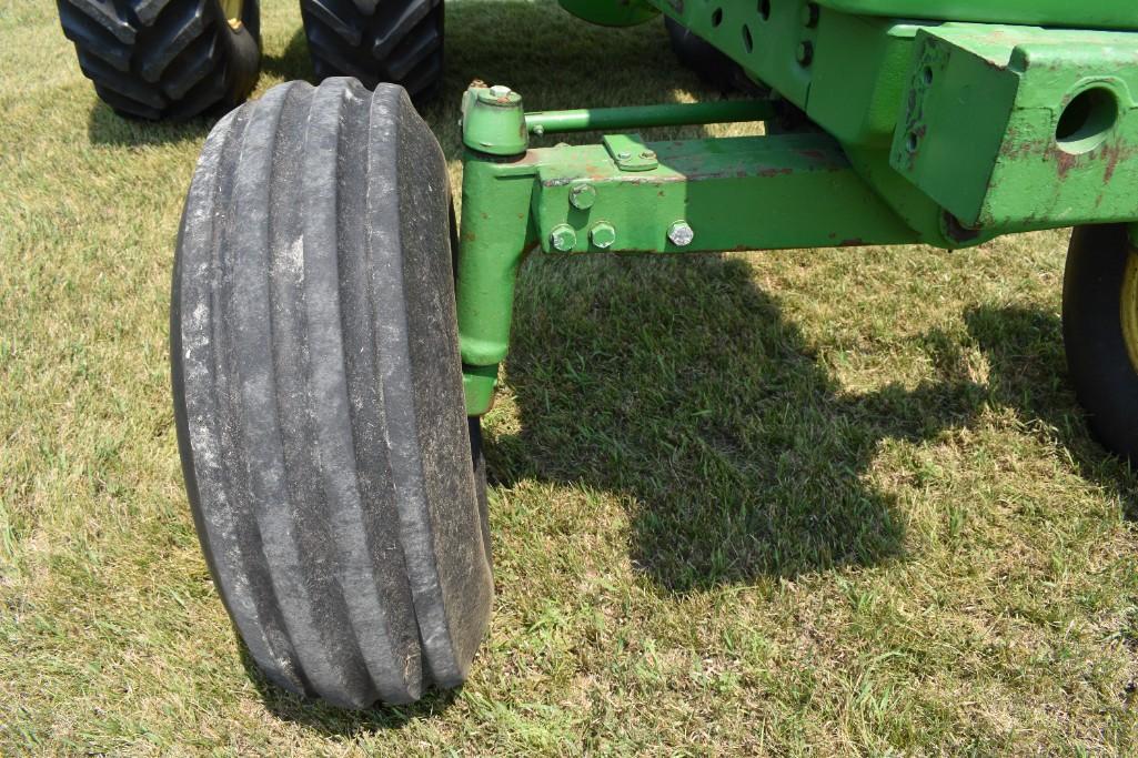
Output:
[[1138,462],[1138,248],[1124,225],[1081,226],[1063,278],[1067,370],[1090,428]]

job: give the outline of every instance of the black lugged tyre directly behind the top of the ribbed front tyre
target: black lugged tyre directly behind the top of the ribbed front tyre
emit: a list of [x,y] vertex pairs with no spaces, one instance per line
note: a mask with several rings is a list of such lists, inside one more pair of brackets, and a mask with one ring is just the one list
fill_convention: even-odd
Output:
[[443,76],[443,0],[300,0],[300,16],[319,79],[391,82],[420,99]]

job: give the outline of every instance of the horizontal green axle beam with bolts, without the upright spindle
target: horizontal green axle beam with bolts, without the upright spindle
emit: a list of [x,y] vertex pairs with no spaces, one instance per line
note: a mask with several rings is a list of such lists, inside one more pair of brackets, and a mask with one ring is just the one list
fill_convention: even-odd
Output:
[[[916,241],[917,234],[853,172],[825,134],[649,142],[659,160],[629,172],[602,146],[531,150],[537,238],[544,253],[699,253]],[[571,203],[587,182],[596,199]],[[676,222],[694,232],[686,245],[669,239]],[[601,248],[589,231],[616,230]],[[568,226],[576,245],[559,250],[552,231]]]

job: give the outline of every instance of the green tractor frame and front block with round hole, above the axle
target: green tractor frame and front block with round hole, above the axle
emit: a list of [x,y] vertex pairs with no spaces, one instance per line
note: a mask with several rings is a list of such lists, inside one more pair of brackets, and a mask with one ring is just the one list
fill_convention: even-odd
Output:
[[[1138,96],[1130,71],[1138,33],[922,25],[842,13],[864,10],[858,3],[813,6],[807,0],[731,0],[721,5],[652,1],[834,137],[855,170],[906,223],[925,239],[940,236],[934,244],[974,244],[1007,231],[1115,221],[1136,213],[1128,198],[1132,196],[1129,162],[1135,145],[1129,127],[1133,118],[1130,96]],[[1086,5],[1071,3],[1077,8]],[[948,7],[942,5],[942,10]],[[1021,10],[1028,7],[1019,6]],[[1039,7],[1044,13],[1059,6],[1044,2]],[[1095,18],[1091,13],[1072,14],[1067,18]],[[1012,13],[1009,17],[1016,16]],[[1057,18],[1040,15],[1037,20]],[[982,43],[986,38],[988,42]],[[973,40],[970,44],[974,49],[968,52],[975,61],[990,66],[982,71],[983,66],[966,65],[965,52],[954,57],[949,82],[957,89],[956,99],[940,80],[929,102],[942,124],[940,134],[930,140],[934,149],[927,154],[918,150],[918,157],[926,157],[899,174],[898,167],[906,166],[907,159],[898,148],[914,133],[899,122],[909,118],[907,106],[914,98],[923,100],[915,84],[923,75],[918,61],[938,40],[960,40],[960,44]],[[984,51],[984,44],[998,48],[999,55]],[[802,46],[810,48],[805,59]],[[1030,72],[1015,71],[1024,64],[1030,65]],[[1011,86],[1012,77],[1017,77],[1020,85]],[[1078,137],[1063,145],[1055,139],[1057,118],[1080,93],[1081,85],[1073,80],[1087,86],[1107,82],[1103,86],[1112,91],[1123,116],[1111,139],[1090,146],[1095,149],[1085,149],[1089,143]],[[968,105],[962,106],[959,96],[965,93]],[[1004,109],[1014,114],[1003,117]],[[917,130],[923,127],[916,125]],[[982,139],[976,142],[976,138]],[[998,149],[992,151],[995,140],[999,140]],[[935,149],[938,143],[943,149]],[[967,176],[966,168],[971,171]],[[980,175],[984,181],[976,179]],[[923,191],[914,192],[914,183]],[[1100,187],[1104,183],[1108,186],[1105,189]],[[1104,199],[1107,195],[1110,200]]]

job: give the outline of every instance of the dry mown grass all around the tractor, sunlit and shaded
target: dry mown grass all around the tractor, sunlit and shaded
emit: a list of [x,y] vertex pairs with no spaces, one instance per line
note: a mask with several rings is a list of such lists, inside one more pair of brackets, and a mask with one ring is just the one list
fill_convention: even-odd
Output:
[[[264,6],[257,94],[311,76],[296,3]],[[447,13],[424,115],[455,181],[471,79],[710,94],[657,24]],[[1138,748],[1138,481],[1066,378],[1065,233],[531,261],[486,421],[489,638],[460,692],[344,712],[251,668],[182,491],[166,307],[211,124],[113,115],[48,0],[0,0],[0,753]]]

